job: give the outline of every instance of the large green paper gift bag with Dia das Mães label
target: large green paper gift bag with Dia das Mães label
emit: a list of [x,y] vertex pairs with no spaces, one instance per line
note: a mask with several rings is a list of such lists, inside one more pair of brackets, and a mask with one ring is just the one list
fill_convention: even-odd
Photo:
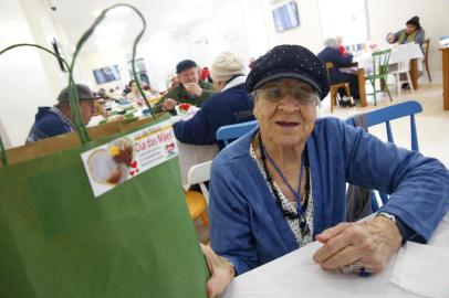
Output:
[[178,158],[97,198],[81,158],[167,116],[90,141],[72,111],[81,145],[0,168],[0,297],[207,297]]

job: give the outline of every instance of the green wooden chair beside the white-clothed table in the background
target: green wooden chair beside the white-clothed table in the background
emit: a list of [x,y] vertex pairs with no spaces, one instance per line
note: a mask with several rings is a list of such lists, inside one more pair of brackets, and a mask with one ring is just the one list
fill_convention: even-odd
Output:
[[[376,93],[384,92],[383,87],[388,94],[389,100],[393,100],[391,95],[389,94],[388,85],[387,85],[387,76],[388,76],[388,62],[389,55],[391,54],[391,49],[383,50],[373,53],[373,72],[365,76],[365,81],[369,79],[373,86],[373,93],[366,95],[374,96],[374,105],[377,106],[377,97]],[[376,89],[376,79],[380,79],[380,88]]]

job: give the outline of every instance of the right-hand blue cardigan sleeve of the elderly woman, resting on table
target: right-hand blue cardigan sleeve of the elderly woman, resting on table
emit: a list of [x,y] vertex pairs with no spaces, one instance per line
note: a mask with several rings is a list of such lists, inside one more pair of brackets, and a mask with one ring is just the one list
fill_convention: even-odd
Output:
[[398,148],[338,121],[349,183],[390,194],[382,209],[427,242],[449,209],[449,171],[434,158]]

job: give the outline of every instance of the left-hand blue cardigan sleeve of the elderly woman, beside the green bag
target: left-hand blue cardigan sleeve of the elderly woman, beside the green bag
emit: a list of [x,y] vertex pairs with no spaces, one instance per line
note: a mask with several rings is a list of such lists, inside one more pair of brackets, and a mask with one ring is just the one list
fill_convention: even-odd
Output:
[[250,206],[241,198],[240,188],[231,185],[233,175],[223,170],[224,168],[212,163],[210,243],[218,255],[234,266],[237,274],[243,274],[258,266],[249,216]]

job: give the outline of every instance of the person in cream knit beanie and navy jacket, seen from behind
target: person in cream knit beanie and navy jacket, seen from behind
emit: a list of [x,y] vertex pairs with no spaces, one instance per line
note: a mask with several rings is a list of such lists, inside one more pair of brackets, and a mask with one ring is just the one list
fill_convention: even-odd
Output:
[[[218,93],[205,102],[191,119],[175,124],[175,136],[179,141],[217,143],[216,135],[221,126],[254,120],[243,73],[242,60],[230,52],[223,52],[213,60],[210,75]],[[222,143],[218,146],[223,147]]]

